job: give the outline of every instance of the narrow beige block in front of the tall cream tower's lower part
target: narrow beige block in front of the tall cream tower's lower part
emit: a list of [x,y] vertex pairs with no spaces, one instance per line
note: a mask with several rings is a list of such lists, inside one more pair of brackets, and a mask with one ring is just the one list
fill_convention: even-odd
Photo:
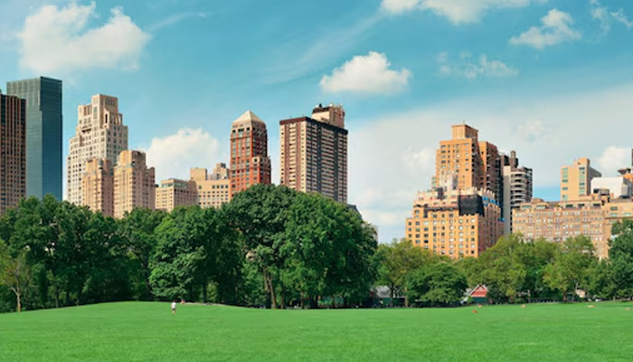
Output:
[[94,212],[114,216],[114,168],[109,159],[90,158],[81,176],[81,202]]

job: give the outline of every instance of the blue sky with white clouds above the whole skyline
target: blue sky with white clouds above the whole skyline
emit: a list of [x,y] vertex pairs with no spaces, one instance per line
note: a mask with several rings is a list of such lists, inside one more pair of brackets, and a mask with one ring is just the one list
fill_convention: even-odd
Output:
[[628,0],[0,0],[0,88],[63,81],[64,153],[77,107],[118,97],[129,148],[156,179],[229,162],[231,122],[342,103],[349,203],[382,243],[404,235],[439,141],[466,122],[559,196],[562,165],[631,164]]

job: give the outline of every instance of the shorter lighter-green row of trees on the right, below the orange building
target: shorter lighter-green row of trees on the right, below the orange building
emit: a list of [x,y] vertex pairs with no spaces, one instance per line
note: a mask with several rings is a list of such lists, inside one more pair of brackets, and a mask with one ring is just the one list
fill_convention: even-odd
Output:
[[[464,291],[487,286],[495,303],[549,300],[632,299],[633,220],[612,227],[609,258],[599,260],[587,236],[563,243],[525,242],[507,235],[479,258],[451,261],[411,244],[380,245],[379,283],[405,305],[447,306],[464,300]],[[435,288],[433,288],[435,286]]]

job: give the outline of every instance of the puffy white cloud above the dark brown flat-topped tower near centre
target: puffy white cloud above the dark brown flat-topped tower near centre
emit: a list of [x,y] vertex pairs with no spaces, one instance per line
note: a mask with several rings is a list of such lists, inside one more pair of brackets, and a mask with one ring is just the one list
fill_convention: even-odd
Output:
[[411,71],[390,69],[392,63],[383,52],[356,55],[341,67],[324,75],[319,85],[327,92],[357,92],[392,94],[404,90],[409,84]]

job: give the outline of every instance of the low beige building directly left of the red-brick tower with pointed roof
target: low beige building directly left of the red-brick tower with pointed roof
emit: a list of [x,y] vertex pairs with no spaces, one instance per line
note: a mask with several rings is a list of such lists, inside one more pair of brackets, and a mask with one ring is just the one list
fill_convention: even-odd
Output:
[[192,168],[191,180],[200,207],[220,207],[231,201],[231,180],[225,164],[215,165],[211,174],[206,168]]

